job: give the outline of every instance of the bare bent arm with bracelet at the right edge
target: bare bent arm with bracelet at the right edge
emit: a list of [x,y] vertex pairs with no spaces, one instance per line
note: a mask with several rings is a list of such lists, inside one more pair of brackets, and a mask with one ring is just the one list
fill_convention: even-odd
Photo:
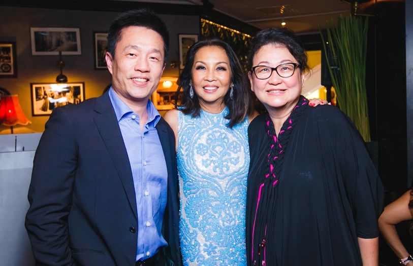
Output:
[[[395,225],[413,218],[413,192],[411,189],[400,198],[385,207],[378,218],[378,227],[386,239],[387,244],[399,258],[402,265],[413,266],[413,257],[407,252],[400,241]],[[410,224],[410,236],[413,237],[413,223]]]

